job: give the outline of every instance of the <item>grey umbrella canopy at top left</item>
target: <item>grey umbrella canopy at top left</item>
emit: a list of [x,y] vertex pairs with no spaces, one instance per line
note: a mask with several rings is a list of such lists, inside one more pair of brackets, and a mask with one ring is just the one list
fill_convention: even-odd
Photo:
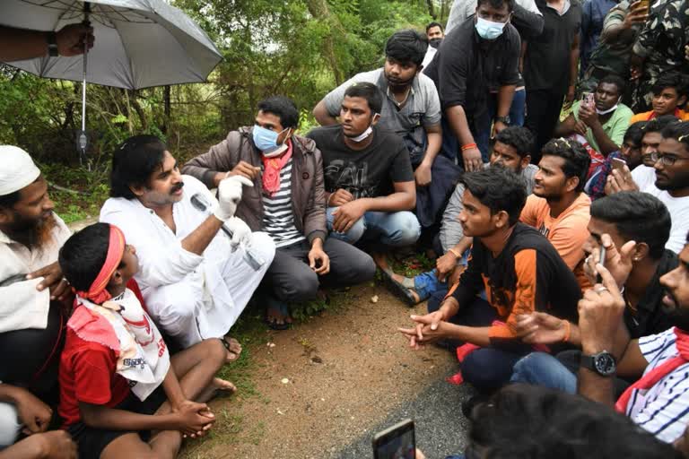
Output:
[[[60,30],[82,22],[82,0],[0,0],[0,24]],[[162,0],[94,0],[89,21],[96,38],[86,82],[130,90],[205,82],[222,56],[204,30]],[[46,78],[83,81],[83,56],[39,57],[9,63]]]

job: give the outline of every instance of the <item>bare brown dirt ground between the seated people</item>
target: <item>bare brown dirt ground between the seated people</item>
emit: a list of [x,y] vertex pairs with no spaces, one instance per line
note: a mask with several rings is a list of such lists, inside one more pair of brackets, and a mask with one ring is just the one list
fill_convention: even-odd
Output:
[[397,333],[424,305],[410,309],[371,284],[350,290],[345,303],[292,330],[258,332],[251,384],[240,388],[251,394],[212,402],[214,434],[182,457],[336,457],[454,364],[447,351],[410,350]]

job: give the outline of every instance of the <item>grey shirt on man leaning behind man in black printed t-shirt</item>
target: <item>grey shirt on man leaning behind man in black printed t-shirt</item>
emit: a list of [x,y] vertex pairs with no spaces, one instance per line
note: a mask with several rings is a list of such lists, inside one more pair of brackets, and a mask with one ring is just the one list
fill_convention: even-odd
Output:
[[[355,74],[351,79],[328,92],[323,101],[326,104],[327,113],[331,117],[337,117],[340,114],[342,100],[345,99],[345,91],[356,82],[371,82],[379,87],[384,96],[387,95],[383,98],[383,108],[378,123],[378,126],[383,129],[392,131],[401,137],[411,136],[414,138],[414,143],[423,145],[425,143],[423,128],[440,125],[440,99],[432,80],[424,74],[418,74],[412,82],[412,89],[405,105],[398,108],[393,95],[388,94],[388,81],[385,79],[382,67],[371,70],[371,72]],[[407,148],[410,146],[407,143]],[[414,156],[412,149],[409,149]],[[412,162],[416,162],[414,158],[412,158]]]

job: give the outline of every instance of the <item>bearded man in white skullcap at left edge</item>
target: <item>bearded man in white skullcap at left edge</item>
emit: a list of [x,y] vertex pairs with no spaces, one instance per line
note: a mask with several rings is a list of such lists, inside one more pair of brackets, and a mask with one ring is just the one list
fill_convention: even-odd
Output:
[[45,431],[52,416],[36,395],[57,385],[62,311],[71,300],[57,264],[70,232],[53,208],[29,154],[0,145],[0,446],[22,427]]

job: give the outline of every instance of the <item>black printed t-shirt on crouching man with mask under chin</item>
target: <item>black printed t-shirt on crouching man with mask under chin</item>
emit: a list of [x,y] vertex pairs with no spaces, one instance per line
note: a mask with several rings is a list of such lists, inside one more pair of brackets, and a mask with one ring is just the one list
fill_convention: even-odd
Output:
[[387,196],[393,182],[411,182],[414,170],[409,152],[397,134],[373,126],[373,140],[363,150],[352,150],[345,144],[342,126],[317,127],[306,136],[316,142],[323,157],[326,191],[339,188],[354,199]]

